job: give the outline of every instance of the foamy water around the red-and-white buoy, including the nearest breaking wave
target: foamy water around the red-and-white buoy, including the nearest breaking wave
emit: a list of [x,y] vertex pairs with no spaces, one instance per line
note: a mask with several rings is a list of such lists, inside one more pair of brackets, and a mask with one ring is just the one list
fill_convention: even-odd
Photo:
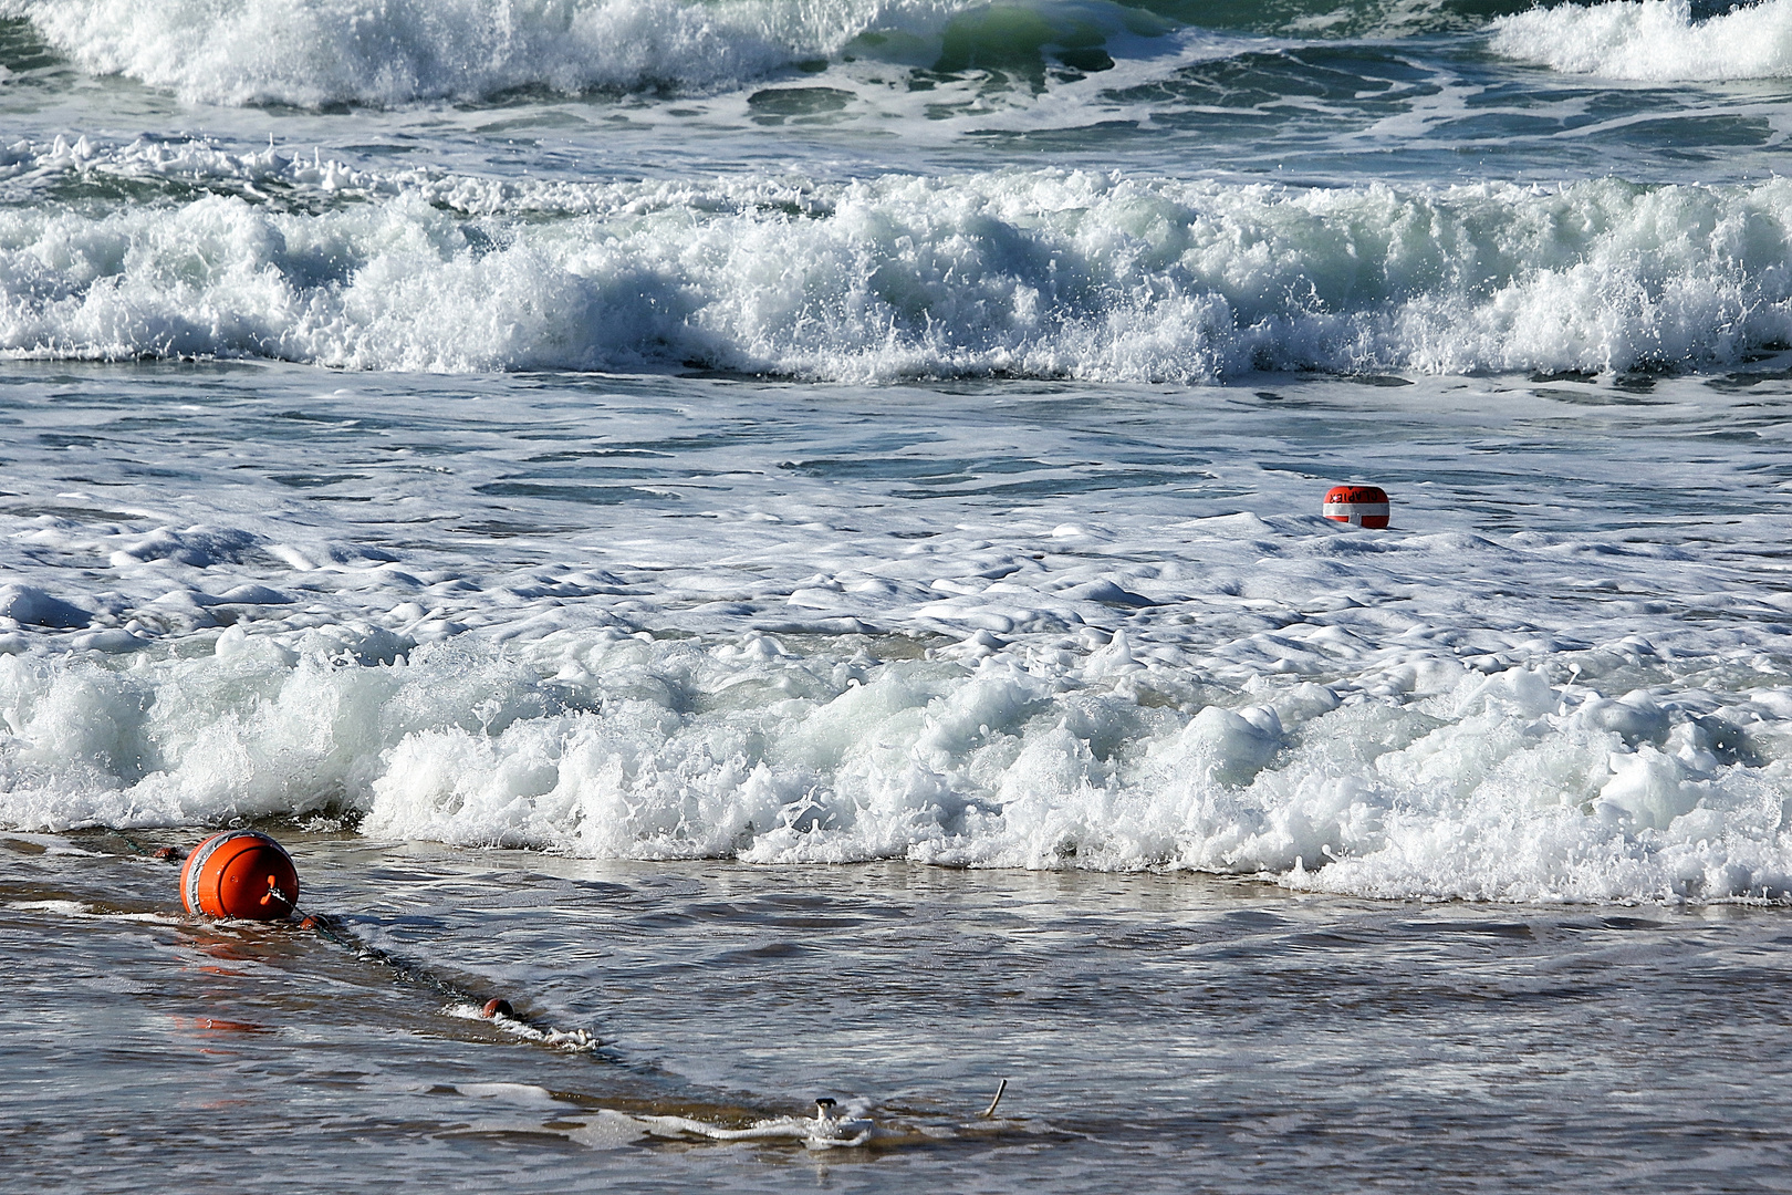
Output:
[[[16,828],[321,812],[599,858],[1523,901],[1792,883],[1778,365],[1242,405],[195,383],[11,387],[9,478],[45,494],[0,589]],[[1391,448],[1412,421],[1448,439]],[[72,453],[84,489],[52,498]],[[1400,530],[1312,514],[1366,460],[1412,478]],[[190,493],[136,477],[167,466]]]

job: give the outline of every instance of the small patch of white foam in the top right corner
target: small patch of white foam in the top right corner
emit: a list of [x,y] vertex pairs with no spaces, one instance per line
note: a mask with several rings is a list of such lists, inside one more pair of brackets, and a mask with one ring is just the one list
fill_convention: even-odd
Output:
[[1607,79],[1779,79],[1792,75],[1792,2],[1762,0],[1695,21],[1688,0],[1561,4],[1505,16],[1507,57]]

